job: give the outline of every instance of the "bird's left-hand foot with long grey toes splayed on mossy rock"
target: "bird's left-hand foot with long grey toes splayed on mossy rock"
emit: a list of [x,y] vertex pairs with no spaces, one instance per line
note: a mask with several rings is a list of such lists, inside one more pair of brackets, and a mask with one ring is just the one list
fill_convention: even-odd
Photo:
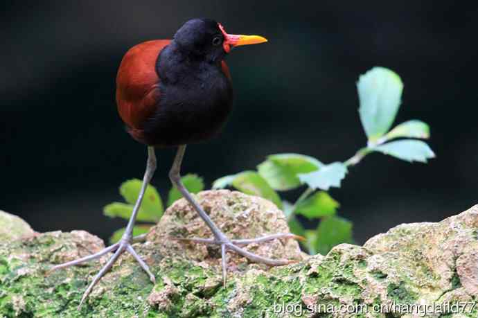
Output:
[[83,296],[81,297],[80,305],[78,305],[78,310],[80,310],[81,306],[87,299],[88,295],[91,293],[91,290],[93,290],[93,288],[98,283],[98,281],[100,281],[100,279],[103,276],[105,276],[105,274],[112,268],[116,260],[118,260],[121,254],[123,254],[125,251],[130,253],[133,256],[133,258],[139,263],[141,268],[143,268],[143,270],[148,274],[148,276],[150,276],[150,280],[152,281],[152,283],[156,283],[156,279],[154,278],[154,275],[150,271],[150,267],[148,267],[148,264],[146,264],[144,260],[141,259],[141,256],[139,256],[132,247],[132,243],[143,241],[144,238],[145,238],[144,235],[136,236],[135,238],[129,238],[129,239],[127,237],[124,237],[119,242],[115,243],[114,245],[111,245],[101,251],[98,251],[98,253],[91,254],[89,256],[85,256],[82,258],[78,258],[77,260],[71,260],[70,262],[63,263],[60,265],[56,265],[52,267],[51,270],[49,270],[48,272],[53,272],[54,270],[60,270],[60,268],[66,268],[66,267],[70,267],[74,265],[79,265],[79,264],[88,262],[89,260],[100,258],[101,256],[108,254],[110,251],[114,251],[113,256],[109,258],[105,266],[103,266],[101,270],[98,272],[98,274],[94,276],[93,281],[91,281],[87,290],[85,290],[85,292],[83,293]]

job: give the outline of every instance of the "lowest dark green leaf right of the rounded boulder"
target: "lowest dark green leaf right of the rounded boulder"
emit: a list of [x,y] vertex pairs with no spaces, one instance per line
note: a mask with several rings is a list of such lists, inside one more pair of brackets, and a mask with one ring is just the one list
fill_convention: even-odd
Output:
[[352,222],[336,215],[321,220],[317,227],[317,251],[326,255],[332,247],[341,243],[351,243]]

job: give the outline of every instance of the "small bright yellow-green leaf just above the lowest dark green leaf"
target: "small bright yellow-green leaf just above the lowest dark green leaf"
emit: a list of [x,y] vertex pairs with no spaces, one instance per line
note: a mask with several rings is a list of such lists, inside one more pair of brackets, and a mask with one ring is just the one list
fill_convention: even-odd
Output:
[[311,220],[313,218],[334,215],[339,205],[339,202],[333,200],[328,193],[319,191],[300,202],[295,209],[295,213]]

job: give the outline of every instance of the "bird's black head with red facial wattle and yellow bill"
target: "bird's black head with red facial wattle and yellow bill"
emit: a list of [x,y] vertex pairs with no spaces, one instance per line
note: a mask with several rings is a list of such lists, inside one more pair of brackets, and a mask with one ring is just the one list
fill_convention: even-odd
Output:
[[180,50],[197,59],[217,62],[231,51],[231,47],[267,42],[258,35],[228,34],[212,19],[191,19],[177,30],[173,41]]

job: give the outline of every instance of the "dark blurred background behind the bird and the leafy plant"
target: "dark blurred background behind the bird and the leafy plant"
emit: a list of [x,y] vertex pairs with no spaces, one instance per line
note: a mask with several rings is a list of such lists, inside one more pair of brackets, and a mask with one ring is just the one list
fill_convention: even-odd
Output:
[[[125,224],[102,208],[121,200],[121,182],[142,177],[146,152],[116,113],[116,69],[127,48],[169,38],[192,17],[269,43],[229,55],[233,116],[219,138],[188,148],[184,173],[211,186],[277,152],[348,159],[366,143],[355,82],[378,65],[405,82],[396,123],[429,123],[437,157],[371,154],[351,168],[331,195],[357,242],[478,203],[476,2],[10,2],[0,19],[0,209],[37,231],[107,238]],[[153,184],[166,195],[174,150],[157,154]]]

